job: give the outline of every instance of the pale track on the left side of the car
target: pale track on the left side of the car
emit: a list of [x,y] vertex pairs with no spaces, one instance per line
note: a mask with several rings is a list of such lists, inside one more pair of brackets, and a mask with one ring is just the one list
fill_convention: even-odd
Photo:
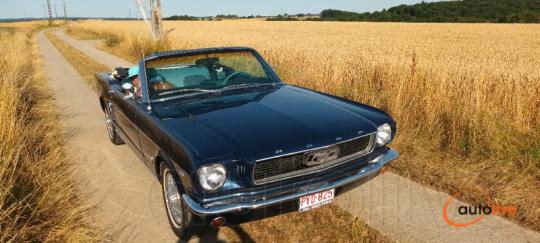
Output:
[[[75,173],[83,182],[81,190],[100,208],[97,225],[102,225],[114,241],[176,241],[167,222],[159,182],[128,146],[109,142],[96,94],[43,32],[38,34],[38,43],[60,119],[69,134],[67,149],[76,161]],[[204,237],[223,238],[215,232]]]

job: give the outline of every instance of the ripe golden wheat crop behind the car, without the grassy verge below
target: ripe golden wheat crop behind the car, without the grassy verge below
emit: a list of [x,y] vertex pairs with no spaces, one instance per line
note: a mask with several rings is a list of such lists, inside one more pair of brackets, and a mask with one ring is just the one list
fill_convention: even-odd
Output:
[[[402,132],[426,135],[444,147],[496,153],[502,143],[486,134],[505,126],[511,133],[512,128],[531,132],[540,123],[539,25],[223,21],[165,26],[174,28],[169,35],[174,48],[254,47],[285,81],[382,107],[397,118]],[[126,42],[117,49],[131,60],[143,53],[136,47],[147,36],[142,22],[85,21],[73,28],[115,33]]]

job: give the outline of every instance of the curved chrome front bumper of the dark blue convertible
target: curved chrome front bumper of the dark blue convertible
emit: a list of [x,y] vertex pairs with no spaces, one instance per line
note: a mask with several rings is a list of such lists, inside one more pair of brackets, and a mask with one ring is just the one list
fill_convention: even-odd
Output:
[[338,187],[347,185],[349,183],[358,181],[360,179],[373,175],[374,173],[378,173],[384,166],[388,165],[390,161],[396,159],[398,156],[399,156],[398,152],[396,152],[393,149],[389,149],[385,154],[382,154],[381,156],[373,159],[367,166],[362,168],[356,174],[328,183],[324,186],[314,187],[306,191],[302,191],[302,192],[298,192],[294,194],[288,194],[288,195],[277,197],[277,198],[271,198],[264,201],[258,201],[258,202],[253,202],[253,203],[232,203],[232,204],[219,205],[219,206],[213,206],[213,207],[203,207],[198,202],[194,201],[187,194],[182,195],[182,197],[184,199],[184,202],[186,203],[186,206],[188,206],[191,209],[191,211],[197,215],[217,215],[217,214],[224,214],[224,213],[231,213],[231,212],[240,212],[243,210],[264,208],[264,207],[272,206],[272,205],[279,204],[282,202],[291,201],[305,195],[317,193],[317,192],[332,189],[332,188],[338,188]]

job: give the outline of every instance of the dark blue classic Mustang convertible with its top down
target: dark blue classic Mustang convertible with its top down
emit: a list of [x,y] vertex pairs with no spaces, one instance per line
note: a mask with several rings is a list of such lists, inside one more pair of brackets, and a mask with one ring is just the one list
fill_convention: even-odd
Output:
[[398,156],[388,114],[283,83],[250,48],[153,53],[97,77],[111,141],[156,174],[181,238],[331,203]]

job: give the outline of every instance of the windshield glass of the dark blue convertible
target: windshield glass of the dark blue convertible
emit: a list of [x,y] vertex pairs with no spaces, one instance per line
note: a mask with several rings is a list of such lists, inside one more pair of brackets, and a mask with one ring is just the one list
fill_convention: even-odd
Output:
[[205,53],[146,62],[150,99],[214,92],[278,81],[250,51]]

